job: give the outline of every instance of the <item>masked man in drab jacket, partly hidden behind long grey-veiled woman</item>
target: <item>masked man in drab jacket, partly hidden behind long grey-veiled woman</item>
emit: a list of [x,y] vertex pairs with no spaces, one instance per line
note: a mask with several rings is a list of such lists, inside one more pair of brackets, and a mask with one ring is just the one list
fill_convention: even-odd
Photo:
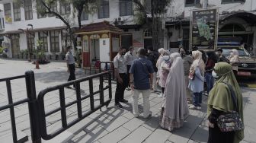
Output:
[[184,65],[185,84],[186,84],[186,91],[187,91],[187,103],[192,103],[191,91],[188,88],[188,83],[189,83],[188,75],[190,72],[190,66],[193,63],[193,58],[187,55],[183,48],[179,49],[179,52],[181,54],[181,58],[183,59],[183,65]]

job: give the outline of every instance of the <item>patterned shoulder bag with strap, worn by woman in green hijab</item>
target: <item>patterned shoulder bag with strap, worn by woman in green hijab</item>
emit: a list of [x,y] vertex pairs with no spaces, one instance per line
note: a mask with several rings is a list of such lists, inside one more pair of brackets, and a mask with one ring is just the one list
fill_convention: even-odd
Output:
[[244,123],[242,122],[242,119],[237,112],[237,99],[235,97],[235,92],[230,84],[225,82],[223,83],[229,87],[235,110],[219,116],[217,119],[217,125],[219,126],[221,132],[235,132],[245,129]]

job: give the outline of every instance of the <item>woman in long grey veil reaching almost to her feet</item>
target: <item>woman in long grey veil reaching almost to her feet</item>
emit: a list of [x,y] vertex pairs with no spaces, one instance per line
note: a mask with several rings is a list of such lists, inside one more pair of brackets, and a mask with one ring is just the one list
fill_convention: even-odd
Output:
[[165,84],[160,116],[160,126],[168,131],[181,128],[189,114],[183,60],[178,52],[174,52],[170,56],[170,61],[171,68]]

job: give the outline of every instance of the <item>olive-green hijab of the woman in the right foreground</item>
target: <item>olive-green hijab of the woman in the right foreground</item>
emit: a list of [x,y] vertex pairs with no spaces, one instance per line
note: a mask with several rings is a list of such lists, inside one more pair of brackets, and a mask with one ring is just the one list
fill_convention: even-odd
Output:
[[[216,63],[216,65],[214,66],[214,71],[219,76],[219,79],[216,81],[213,89],[209,93],[207,116],[210,115],[213,108],[226,113],[235,110],[229,87],[226,84],[222,83],[226,82],[232,85],[233,90],[235,91],[235,96],[237,98],[237,110],[239,115],[241,116],[242,121],[244,122],[242,92],[240,90],[238,82],[236,81],[235,75],[232,72],[232,66],[226,62],[219,62]],[[243,138],[244,130],[235,132],[234,142],[242,141]]]

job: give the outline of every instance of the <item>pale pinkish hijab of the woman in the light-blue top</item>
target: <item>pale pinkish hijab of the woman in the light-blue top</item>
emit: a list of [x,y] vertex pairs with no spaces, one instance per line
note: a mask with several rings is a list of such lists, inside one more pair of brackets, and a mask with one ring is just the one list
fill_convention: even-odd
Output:
[[202,59],[202,52],[200,51],[193,51],[192,56],[194,58],[194,61],[192,65],[190,66],[190,73],[194,73],[196,68],[200,68],[201,75],[204,75],[205,71],[205,63],[203,62]]

